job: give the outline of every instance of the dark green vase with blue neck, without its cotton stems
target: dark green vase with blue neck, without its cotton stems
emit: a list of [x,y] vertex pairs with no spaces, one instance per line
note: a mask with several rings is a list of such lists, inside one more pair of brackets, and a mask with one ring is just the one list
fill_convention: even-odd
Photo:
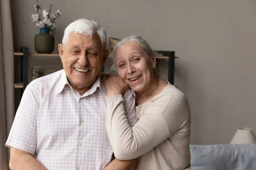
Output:
[[40,28],[40,33],[35,35],[35,51],[51,54],[54,50],[54,36],[49,34],[50,28]]

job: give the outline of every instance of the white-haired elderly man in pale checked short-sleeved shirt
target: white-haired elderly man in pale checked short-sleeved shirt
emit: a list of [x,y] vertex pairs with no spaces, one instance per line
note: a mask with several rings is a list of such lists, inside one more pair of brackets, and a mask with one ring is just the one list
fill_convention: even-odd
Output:
[[[100,75],[109,54],[105,48],[106,33],[94,21],[80,19],[67,26],[58,45],[64,70],[35,79],[22,96],[6,142],[12,170],[135,166],[136,160],[111,161],[113,150],[105,129],[107,95]],[[123,96],[129,123],[134,125],[132,92]]]

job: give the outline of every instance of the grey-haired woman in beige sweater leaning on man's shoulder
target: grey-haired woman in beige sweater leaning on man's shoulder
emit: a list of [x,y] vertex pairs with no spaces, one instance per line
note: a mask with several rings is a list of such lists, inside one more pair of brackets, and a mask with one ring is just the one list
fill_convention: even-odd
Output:
[[[136,170],[190,170],[190,110],[184,94],[157,76],[155,53],[141,37],[121,40],[112,55],[118,76],[103,74],[103,79],[106,127],[116,159],[139,157]],[[133,127],[122,97],[128,87],[135,94],[138,122]]]

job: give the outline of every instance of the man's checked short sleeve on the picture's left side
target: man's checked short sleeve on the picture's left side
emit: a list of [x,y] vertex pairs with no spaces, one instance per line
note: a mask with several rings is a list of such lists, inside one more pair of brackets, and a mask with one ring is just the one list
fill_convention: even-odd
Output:
[[35,153],[38,110],[39,102],[32,89],[27,86],[17,109],[6,147],[15,147],[32,154]]

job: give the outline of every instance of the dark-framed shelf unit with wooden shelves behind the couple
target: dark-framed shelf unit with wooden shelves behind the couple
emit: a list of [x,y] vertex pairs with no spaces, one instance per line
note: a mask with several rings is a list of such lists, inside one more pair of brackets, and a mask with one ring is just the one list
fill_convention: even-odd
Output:
[[[38,54],[38,53],[29,53],[27,47],[21,48],[22,52],[15,52],[15,56],[21,56],[21,80],[19,83],[14,83],[15,88],[22,88],[22,93],[28,85],[29,77],[29,56],[48,56],[48,57],[59,57],[59,54]],[[173,85],[174,84],[174,66],[175,66],[175,51],[157,51],[163,56],[157,56],[157,59],[168,59],[168,81]],[[111,58],[111,57],[109,57]],[[102,68],[104,71],[104,67]]]

